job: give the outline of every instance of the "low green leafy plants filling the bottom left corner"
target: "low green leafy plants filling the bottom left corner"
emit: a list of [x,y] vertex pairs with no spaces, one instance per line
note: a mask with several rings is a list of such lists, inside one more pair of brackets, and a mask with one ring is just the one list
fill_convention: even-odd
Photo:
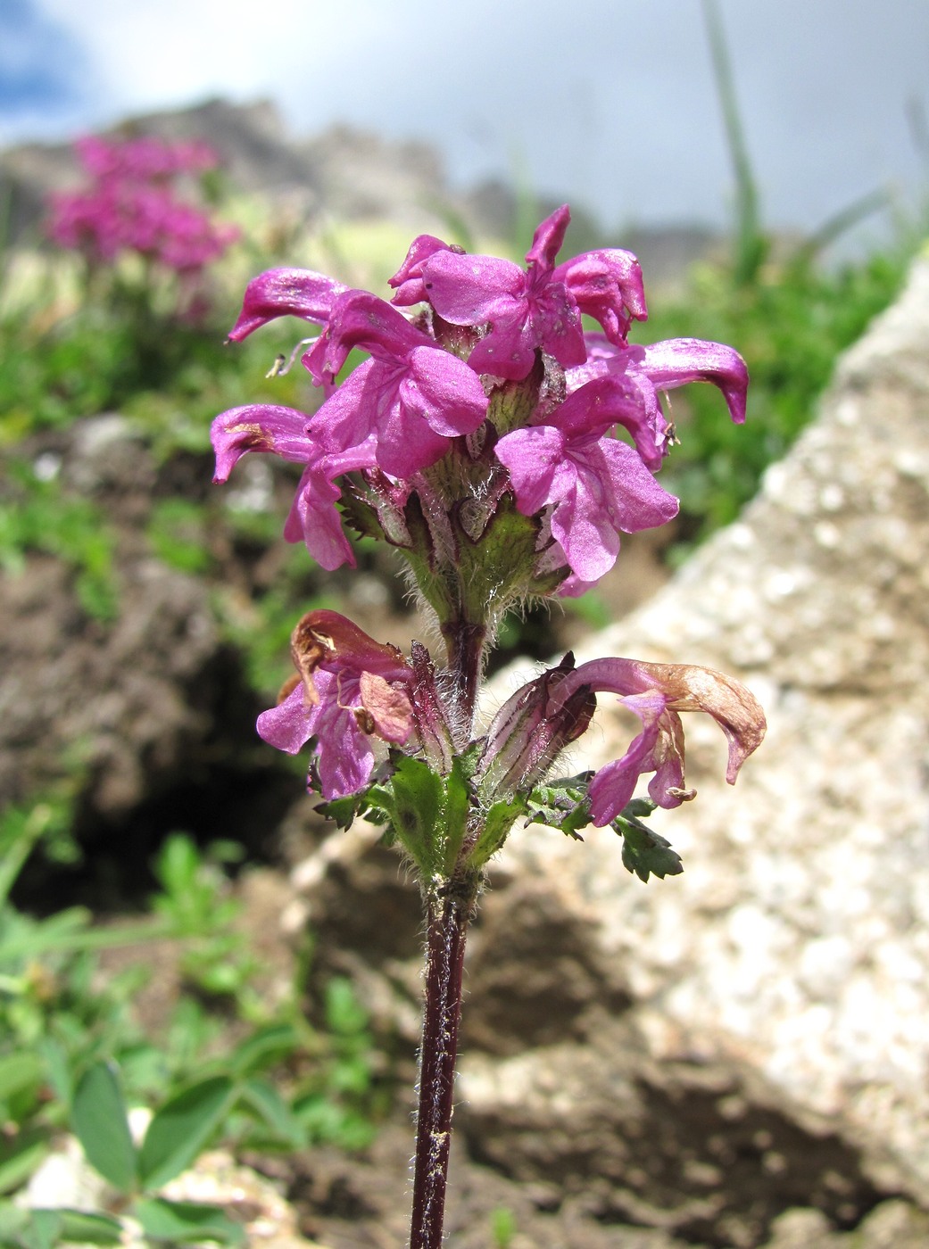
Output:
[[[17,812],[0,831],[4,843],[34,843],[55,818],[47,803],[25,826]],[[302,1000],[306,952],[295,959],[287,995],[266,1002],[262,969],[238,924],[241,903],[217,871],[238,849],[217,846],[204,857],[186,836],[169,837],[151,914],[132,923],[94,927],[79,907],[34,919],[0,904],[4,1249],[119,1244],[124,1215],[155,1242],[241,1244],[242,1228],[219,1208],[161,1193],[205,1148],[267,1154],[370,1142],[377,1100],[366,1012],[347,980],[331,979],[322,1024],[311,1027]],[[146,1035],[132,1002],[151,974],[145,950],[154,940],[180,945],[186,993],[160,1033]],[[140,962],[101,979],[99,952],[119,945],[137,947]],[[230,1045],[233,1034],[241,1039]],[[139,1142],[131,1120],[147,1124]],[[111,1207],[92,1214],[20,1209],[10,1197],[66,1128],[114,1190]]]

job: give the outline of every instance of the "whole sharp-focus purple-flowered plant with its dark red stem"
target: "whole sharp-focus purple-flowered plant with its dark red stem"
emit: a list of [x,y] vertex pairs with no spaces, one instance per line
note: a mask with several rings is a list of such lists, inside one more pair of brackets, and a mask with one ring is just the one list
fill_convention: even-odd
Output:
[[[576,666],[567,654],[474,729],[503,616],[531,598],[583,593],[616,562],[621,532],[676,515],[654,477],[674,442],[659,393],[709,381],[733,421],[745,415],[748,375],[730,347],[628,342],[647,316],[638,261],[611,249],[557,264],[568,220],[562,207],[542,222],[526,269],[422,235],[390,280],[390,304],[307,270],[262,274],[230,337],[285,315],[320,326],[302,363],[327,397],[312,416],[246,406],[212,426],[216,481],[248,451],[302,465],[285,537],[305,541],[323,568],[355,565],[350,533],[393,546],[445,646],[433,657],[412,642],[403,654],[337,612],[310,612],[292,636],[296,673],[257,726],[290,753],[311,743],[308,788],[321,809],[340,826],[383,823],[420,881],[412,1249],[442,1239],[464,938],[491,857],[518,821],[568,836],[596,824],[623,837],[623,861],[642,879],[679,872],[642,821],[693,798],[679,712],[717,721],[730,783],[765,727],[749,691],[719,672],[628,658]],[[602,332],[586,332],[582,313]],[[368,358],[340,382],[352,348]],[[553,778],[598,691],[642,731],[599,771]],[[649,798],[634,799],[646,773]]]

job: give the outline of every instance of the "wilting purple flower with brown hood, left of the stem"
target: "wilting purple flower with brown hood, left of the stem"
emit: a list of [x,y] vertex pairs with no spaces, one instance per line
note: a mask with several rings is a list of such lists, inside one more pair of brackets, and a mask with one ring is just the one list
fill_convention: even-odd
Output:
[[358,793],[373,772],[375,739],[402,746],[413,733],[413,669],[396,647],[331,611],[303,616],[291,653],[298,677],[258,716],[258,734],[288,754],[315,737],[323,798]]

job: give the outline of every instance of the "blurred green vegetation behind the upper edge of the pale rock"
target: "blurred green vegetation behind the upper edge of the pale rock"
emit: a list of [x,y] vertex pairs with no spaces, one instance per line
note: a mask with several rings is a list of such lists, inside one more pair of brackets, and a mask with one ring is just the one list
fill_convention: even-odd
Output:
[[748,285],[737,284],[727,266],[703,264],[683,299],[652,301],[643,340],[735,343],[752,378],[745,428],[727,420],[709,386],[671,395],[681,446],[662,470],[662,485],[681,497],[683,542],[728,525],[752,498],[767,466],[814,416],[837,357],[895,297],[912,256],[913,247],[902,244],[824,267],[800,249],[762,266]]

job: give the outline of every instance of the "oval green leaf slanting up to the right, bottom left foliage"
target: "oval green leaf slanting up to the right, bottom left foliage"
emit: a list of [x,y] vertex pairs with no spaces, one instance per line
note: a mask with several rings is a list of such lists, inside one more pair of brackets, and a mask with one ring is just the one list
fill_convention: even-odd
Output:
[[215,1075],[184,1089],[155,1114],[139,1153],[139,1174],[146,1189],[161,1188],[185,1170],[236,1099],[226,1075]]

